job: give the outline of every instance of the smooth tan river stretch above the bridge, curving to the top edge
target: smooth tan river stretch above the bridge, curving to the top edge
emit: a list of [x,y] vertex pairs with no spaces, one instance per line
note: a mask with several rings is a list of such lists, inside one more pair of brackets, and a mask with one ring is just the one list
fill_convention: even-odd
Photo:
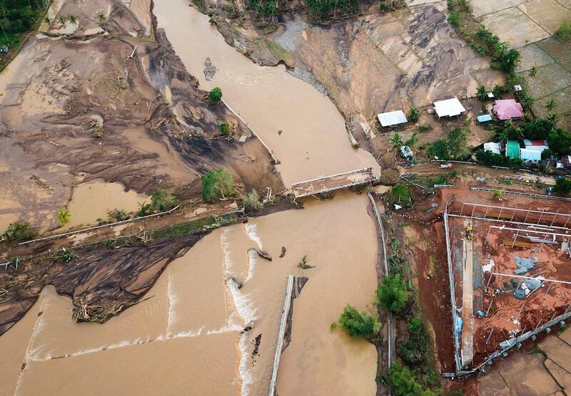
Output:
[[[373,156],[351,147],[345,120],[327,96],[284,66],[259,66],[228,46],[186,0],[156,1],[153,12],[201,88],[220,87],[223,100],[271,147],[286,186],[363,167],[378,174]],[[217,68],[211,81],[203,73],[206,58]]]

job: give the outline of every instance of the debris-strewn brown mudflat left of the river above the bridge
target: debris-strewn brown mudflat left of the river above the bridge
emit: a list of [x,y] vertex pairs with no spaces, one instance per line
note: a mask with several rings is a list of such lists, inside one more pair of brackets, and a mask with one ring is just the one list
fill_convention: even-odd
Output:
[[[32,38],[0,76],[1,224],[23,217],[53,229],[56,209],[92,179],[145,193],[175,187],[185,199],[198,194],[200,174],[225,167],[246,187],[279,189],[261,144],[237,142],[251,133],[208,104],[160,32],[158,42],[131,38],[150,27],[121,3],[98,5],[111,10],[109,34],[90,27],[97,7],[78,6],[71,40]],[[46,31],[58,32],[56,22]],[[233,140],[220,136],[224,122],[235,125]]]

